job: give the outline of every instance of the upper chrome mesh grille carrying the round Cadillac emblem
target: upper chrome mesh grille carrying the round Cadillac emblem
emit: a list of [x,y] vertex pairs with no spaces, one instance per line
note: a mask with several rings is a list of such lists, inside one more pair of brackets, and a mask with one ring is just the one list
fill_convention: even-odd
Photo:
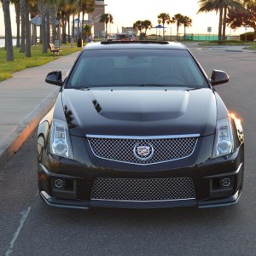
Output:
[[[177,138],[121,138],[88,136],[90,148],[97,157],[119,162],[148,165],[189,157],[193,154],[197,137]],[[139,156],[137,148],[147,148],[146,156]]]

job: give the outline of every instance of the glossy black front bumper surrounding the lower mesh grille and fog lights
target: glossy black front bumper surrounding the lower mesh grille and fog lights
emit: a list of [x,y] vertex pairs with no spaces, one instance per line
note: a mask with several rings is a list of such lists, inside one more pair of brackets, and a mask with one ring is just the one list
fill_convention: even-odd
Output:
[[[56,159],[49,161],[55,162]],[[238,148],[228,158],[208,160],[194,166],[161,170],[119,170],[74,164],[65,160],[62,166],[49,172],[43,164],[38,165],[38,183],[40,196],[53,207],[89,209],[90,207],[122,207],[122,208],[164,208],[164,207],[224,207],[236,204],[241,195],[243,183],[243,147]],[[155,167],[155,166],[154,166]],[[145,168],[144,168],[145,169]],[[195,185],[195,199],[166,201],[114,201],[91,199],[94,180],[97,177],[113,178],[166,178],[191,177]],[[223,178],[230,178],[230,186],[223,188],[216,185]],[[63,178],[69,184],[68,189],[55,188],[56,178]]]

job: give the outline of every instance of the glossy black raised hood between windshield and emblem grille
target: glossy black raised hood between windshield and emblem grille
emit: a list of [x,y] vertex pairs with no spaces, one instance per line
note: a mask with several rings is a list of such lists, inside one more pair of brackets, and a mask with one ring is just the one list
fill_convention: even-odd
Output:
[[163,136],[215,131],[211,89],[64,89],[62,106],[72,135]]

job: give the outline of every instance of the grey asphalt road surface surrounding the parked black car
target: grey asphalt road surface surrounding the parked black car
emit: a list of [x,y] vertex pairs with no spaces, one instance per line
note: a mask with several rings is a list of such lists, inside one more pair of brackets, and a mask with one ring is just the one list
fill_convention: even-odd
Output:
[[[256,54],[192,48],[246,134],[244,190],[236,206],[90,211],[47,207],[38,196],[36,137],[0,171],[0,255],[256,255]],[[254,160],[254,161],[253,161]]]

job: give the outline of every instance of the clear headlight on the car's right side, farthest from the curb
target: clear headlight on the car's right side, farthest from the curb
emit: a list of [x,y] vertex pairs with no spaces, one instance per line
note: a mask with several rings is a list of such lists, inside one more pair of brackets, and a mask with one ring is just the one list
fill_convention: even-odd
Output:
[[231,154],[234,148],[230,118],[217,121],[212,158]]

